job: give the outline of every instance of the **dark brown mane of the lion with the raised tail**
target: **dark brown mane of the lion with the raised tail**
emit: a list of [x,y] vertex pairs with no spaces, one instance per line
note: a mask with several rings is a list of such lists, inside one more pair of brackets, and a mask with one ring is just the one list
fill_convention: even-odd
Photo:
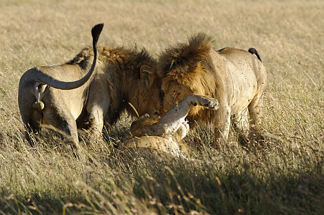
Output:
[[[123,46],[101,45],[98,47],[98,52],[100,63],[97,64],[96,69],[101,71],[98,76],[110,86],[109,96],[113,101],[107,119],[105,119],[106,122],[109,124],[116,122],[125,109],[128,110],[128,113],[135,115],[128,103],[131,103],[140,115],[148,113],[153,105],[152,96],[156,93],[155,91],[159,93],[157,88],[161,86],[159,76],[156,75],[156,59],[150,56],[145,49],[138,49],[136,46],[128,49]],[[67,64],[79,65],[84,71],[87,71],[87,68],[91,66],[90,58],[93,56],[92,47],[86,47]],[[148,78],[143,77],[143,74],[141,77],[143,65],[149,67],[150,75],[154,76],[154,84],[150,88],[146,86],[147,82],[145,82]],[[149,76],[149,74],[145,74],[145,76]]]

